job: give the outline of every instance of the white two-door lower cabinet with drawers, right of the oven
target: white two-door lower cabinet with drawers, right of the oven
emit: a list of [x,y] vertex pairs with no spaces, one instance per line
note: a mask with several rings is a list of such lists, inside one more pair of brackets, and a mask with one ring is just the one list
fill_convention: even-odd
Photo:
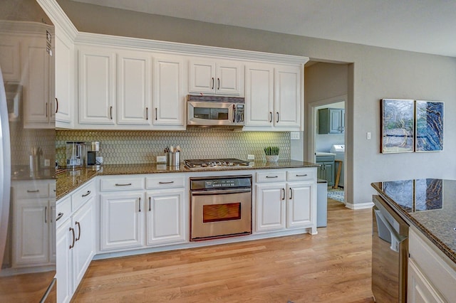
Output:
[[316,233],[316,169],[257,173],[257,231],[310,228]]

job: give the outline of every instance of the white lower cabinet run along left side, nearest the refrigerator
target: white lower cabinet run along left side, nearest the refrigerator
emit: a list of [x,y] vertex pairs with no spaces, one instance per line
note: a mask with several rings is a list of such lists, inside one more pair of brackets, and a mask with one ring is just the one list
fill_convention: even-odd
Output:
[[56,212],[57,302],[70,302],[95,255],[93,181],[61,198]]

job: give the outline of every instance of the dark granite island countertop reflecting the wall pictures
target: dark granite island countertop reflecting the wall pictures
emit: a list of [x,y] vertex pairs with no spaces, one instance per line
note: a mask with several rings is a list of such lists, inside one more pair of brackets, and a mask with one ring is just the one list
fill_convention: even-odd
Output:
[[456,263],[456,180],[414,179],[371,185],[399,216]]

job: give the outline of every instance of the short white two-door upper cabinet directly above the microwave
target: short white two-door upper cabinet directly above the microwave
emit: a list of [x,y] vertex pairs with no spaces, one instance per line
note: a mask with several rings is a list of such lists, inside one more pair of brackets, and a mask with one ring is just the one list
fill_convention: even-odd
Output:
[[190,60],[190,93],[244,95],[244,65],[235,60]]

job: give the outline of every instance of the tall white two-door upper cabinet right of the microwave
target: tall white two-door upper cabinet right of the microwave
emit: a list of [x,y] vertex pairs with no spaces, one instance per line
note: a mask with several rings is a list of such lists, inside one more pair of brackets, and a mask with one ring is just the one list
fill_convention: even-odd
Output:
[[246,65],[245,130],[301,130],[301,65]]

